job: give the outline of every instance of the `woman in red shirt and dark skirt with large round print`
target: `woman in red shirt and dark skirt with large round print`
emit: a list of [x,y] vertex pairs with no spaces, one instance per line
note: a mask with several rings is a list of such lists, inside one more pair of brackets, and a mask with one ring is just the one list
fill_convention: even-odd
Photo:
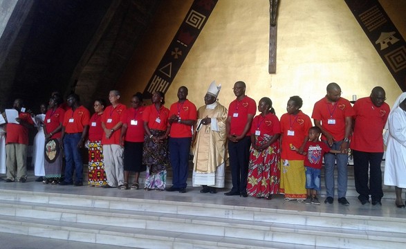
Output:
[[60,107],[64,102],[60,95],[53,95],[49,100],[49,109],[45,114],[45,177],[44,184],[56,185],[61,180],[62,174],[62,151],[61,131],[64,122],[65,110]]

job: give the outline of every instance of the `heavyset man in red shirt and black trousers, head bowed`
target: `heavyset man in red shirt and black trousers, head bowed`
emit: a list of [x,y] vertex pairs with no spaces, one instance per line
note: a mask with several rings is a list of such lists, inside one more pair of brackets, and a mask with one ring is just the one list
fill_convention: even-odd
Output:
[[353,107],[355,124],[350,147],[354,156],[356,190],[362,205],[369,203],[369,195],[372,205],[382,205],[382,130],[390,111],[389,105],[385,103],[385,95],[385,90],[376,86],[369,97],[360,98]]

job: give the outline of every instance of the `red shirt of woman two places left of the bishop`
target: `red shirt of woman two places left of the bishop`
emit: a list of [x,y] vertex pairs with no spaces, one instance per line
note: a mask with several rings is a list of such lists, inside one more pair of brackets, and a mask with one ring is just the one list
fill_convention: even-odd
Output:
[[148,122],[149,129],[166,131],[168,127],[168,118],[169,109],[161,106],[160,109],[157,110],[155,104],[145,107],[144,113],[142,113],[142,120],[144,120],[144,122]]

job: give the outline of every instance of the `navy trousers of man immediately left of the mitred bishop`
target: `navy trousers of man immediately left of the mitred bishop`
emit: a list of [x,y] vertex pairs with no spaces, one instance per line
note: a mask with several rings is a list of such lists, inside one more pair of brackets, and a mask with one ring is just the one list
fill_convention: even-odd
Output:
[[187,186],[191,142],[192,138],[169,138],[169,159],[173,172],[173,187],[183,188]]

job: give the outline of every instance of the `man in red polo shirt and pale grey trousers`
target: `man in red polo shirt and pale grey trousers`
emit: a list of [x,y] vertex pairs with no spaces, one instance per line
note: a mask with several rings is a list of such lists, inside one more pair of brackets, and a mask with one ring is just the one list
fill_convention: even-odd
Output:
[[104,110],[102,115],[104,171],[108,183],[103,187],[118,187],[118,189],[125,190],[124,147],[120,144],[120,136],[122,116],[125,115],[127,107],[120,103],[120,92],[117,90],[110,91],[109,101],[111,105]]

